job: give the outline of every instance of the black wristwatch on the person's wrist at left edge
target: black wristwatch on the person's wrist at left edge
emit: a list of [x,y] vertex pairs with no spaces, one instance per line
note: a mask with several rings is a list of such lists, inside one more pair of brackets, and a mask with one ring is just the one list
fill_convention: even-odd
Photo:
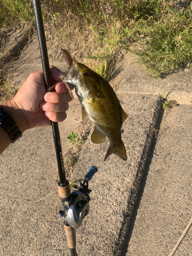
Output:
[[0,125],[11,136],[12,143],[22,137],[22,132],[19,130],[16,122],[7,112],[0,106]]

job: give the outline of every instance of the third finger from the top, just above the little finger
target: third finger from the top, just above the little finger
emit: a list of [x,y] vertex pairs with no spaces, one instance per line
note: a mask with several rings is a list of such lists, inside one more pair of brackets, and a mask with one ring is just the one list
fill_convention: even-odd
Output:
[[46,112],[66,112],[69,109],[68,103],[61,103],[61,104],[54,104],[54,103],[47,103],[46,101],[42,101],[39,104],[41,110]]

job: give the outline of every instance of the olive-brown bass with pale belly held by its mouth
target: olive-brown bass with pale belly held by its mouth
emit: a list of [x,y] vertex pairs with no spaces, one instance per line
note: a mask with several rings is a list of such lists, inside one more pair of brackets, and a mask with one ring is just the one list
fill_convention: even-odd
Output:
[[104,143],[108,137],[110,146],[104,161],[112,154],[126,160],[126,150],[121,139],[121,127],[127,114],[123,111],[113,88],[108,81],[86,65],[75,59],[69,62],[70,67],[66,71],[65,82],[70,82],[75,87],[76,95],[82,106],[82,121],[85,122],[90,118],[95,125],[91,141]]

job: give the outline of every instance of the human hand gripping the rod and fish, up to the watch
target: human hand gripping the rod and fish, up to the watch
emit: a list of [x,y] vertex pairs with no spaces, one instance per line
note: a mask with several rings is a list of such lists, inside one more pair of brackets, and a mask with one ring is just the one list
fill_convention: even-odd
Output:
[[[54,66],[50,66],[52,84],[61,79],[65,73]],[[72,84],[68,83],[72,90]],[[42,70],[29,75],[16,95],[4,102],[2,107],[24,132],[36,126],[50,125],[51,121],[61,122],[66,119],[68,102],[72,100],[68,89],[63,82],[55,86],[54,92],[47,92]]]

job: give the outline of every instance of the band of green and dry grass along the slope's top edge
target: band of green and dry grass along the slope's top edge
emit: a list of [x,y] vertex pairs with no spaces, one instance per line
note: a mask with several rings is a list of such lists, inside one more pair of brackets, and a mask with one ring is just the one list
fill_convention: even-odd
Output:
[[[121,49],[139,55],[153,76],[168,74],[191,62],[191,11],[188,7],[179,13],[175,1],[45,0],[41,5],[44,21],[54,21],[58,38],[73,38],[80,47],[86,46],[84,57],[104,77]],[[31,1],[2,0],[0,26],[11,29],[19,22],[34,23]],[[96,51],[90,55],[92,47]]]

